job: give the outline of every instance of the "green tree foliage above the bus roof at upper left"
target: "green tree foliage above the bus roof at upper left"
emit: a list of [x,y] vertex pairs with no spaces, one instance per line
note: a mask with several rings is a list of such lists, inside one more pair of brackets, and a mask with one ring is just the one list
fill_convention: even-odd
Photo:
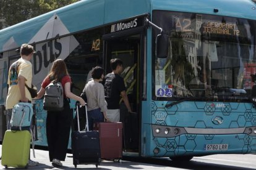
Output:
[[0,19],[4,23],[0,23],[0,29],[4,25],[11,26],[77,1],[79,0],[1,0]]

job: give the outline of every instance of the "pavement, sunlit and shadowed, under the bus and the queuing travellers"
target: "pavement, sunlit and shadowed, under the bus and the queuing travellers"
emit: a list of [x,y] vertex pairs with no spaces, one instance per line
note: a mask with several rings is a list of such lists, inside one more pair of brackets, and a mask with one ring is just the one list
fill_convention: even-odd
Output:
[[[0,153],[1,153],[0,145]],[[29,167],[28,169],[75,169],[72,162],[72,154],[67,154],[66,161],[62,162],[63,167],[53,168],[48,158],[48,151],[35,150],[36,158],[32,160],[39,161],[38,166]],[[32,152],[31,152],[32,154]],[[98,170],[109,169],[217,169],[217,170],[249,170],[256,169],[256,155],[210,155],[194,157],[191,161],[174,162],[169,158],[132,158],[124,157],[121,163],[103,160],[98,166]],[[0,169],[4,166],[0,165]],[[81,164],[77,169],[96,169],[94,164]]]

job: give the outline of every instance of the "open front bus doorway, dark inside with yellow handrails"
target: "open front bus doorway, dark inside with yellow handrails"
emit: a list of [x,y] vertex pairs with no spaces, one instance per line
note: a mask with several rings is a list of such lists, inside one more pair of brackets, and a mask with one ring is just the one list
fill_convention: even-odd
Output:
[[130,35],[105,40],[105,69],[106,74],[111,73],[109,61],[121,59],[124,63],[124,71],[121,73],[126,85],[126,93],[130,107],[135,113],[128,113],[122,99],[120,100],[120,121],[124,126],[124,151],[139,151],[139,120],[140,120],[140,55],[141,34]]

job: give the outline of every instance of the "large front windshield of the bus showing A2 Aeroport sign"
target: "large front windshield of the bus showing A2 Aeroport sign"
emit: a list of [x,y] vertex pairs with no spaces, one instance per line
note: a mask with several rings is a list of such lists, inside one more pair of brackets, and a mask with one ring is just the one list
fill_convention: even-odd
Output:
[[[168,46],[168,56],[155,56],[153,62],[153,96],[218,101],[252,96],[256,81],[254,20],[155,10],[153,23],[168,35],[168,41],[161,44]],[[157,34],[153,30],[154,44]]]

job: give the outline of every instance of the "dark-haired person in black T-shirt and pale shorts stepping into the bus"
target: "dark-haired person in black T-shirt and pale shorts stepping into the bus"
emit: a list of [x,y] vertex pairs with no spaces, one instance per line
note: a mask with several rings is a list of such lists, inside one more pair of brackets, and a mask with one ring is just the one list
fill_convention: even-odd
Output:
[[124,100],[127,110],[129,112],[132,112],[132,110],[126,94],[124,79],[119,76],[124,70],[122,60],[111,59],[110,65],[113,72],[106,75],[103,79],[106,102],[108,103],[106,115],[109,121],[118,122],[120,121],[120,95]]

